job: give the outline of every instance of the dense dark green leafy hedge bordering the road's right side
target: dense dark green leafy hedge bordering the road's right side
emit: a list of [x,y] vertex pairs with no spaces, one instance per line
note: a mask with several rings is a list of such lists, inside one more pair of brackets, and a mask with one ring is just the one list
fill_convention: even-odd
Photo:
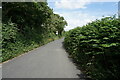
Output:
[[119,80],[119,19],[106,17],[70,30],[64,46],[91,79]]

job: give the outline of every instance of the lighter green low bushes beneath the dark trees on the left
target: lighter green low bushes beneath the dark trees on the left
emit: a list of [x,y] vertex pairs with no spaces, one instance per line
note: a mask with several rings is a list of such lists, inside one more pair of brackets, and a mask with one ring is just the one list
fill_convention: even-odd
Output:
[[58,36],[52,33],[42,36],[35,31],[31,31],[32,34],[24,36],[16,26],[17,24],[12,22],[2,24],[2,62],[58,39]]

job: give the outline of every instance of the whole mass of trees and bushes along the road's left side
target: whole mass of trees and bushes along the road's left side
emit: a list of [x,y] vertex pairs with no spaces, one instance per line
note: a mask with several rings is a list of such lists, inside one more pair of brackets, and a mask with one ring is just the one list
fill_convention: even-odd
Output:
[[65,25],[47,2],[3,2],[2,62],[59,39]]

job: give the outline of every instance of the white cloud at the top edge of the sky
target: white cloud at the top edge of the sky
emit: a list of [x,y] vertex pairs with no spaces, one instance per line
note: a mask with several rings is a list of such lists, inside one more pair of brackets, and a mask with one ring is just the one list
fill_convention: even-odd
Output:
[[61,0],[56,1],[55,6],[57,8],[64,9],[78,9],[78,8],[86,8],[86,5],[90,3],[90,0]]

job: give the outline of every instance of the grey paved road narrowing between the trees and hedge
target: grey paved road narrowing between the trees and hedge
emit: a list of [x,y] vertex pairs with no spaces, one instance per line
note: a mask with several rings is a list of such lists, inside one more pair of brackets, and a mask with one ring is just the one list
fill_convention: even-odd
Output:
[[3,78],[79,78],[63,39],[55,40],[2,65]]

